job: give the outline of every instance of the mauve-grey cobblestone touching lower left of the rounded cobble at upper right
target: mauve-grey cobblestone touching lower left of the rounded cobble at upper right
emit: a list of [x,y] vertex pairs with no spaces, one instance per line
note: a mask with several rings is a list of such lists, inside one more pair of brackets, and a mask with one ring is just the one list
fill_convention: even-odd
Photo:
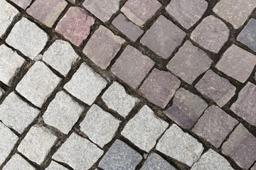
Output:
[[210,68],[212,62],[203,50],[186,41],[166,67],[183,81],[192,84]]

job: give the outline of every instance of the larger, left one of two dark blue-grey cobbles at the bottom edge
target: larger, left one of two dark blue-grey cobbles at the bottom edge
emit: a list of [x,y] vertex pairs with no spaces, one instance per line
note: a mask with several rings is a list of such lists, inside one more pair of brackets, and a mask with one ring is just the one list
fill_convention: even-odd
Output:
[[100,161],[99,167],[112,170],[135,169],[142,156],[121,140],[116,140]]

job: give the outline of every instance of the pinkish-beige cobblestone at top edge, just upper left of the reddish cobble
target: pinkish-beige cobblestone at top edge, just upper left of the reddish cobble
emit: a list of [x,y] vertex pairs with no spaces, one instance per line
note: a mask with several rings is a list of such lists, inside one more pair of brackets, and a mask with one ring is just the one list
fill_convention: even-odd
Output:
[[26,11],[51,28],[67,5],[65,0],[36,0]]

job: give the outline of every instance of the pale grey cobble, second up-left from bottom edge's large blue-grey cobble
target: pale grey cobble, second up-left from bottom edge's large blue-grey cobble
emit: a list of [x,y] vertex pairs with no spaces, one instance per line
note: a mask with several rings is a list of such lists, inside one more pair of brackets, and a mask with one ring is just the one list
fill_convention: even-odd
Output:
[[43,120],[46,124],[68,134],[78,121],[82,110],[82,107],[73,98],[65,94],[64,91],[60,91],[50,102],[46,112],[43,113]]

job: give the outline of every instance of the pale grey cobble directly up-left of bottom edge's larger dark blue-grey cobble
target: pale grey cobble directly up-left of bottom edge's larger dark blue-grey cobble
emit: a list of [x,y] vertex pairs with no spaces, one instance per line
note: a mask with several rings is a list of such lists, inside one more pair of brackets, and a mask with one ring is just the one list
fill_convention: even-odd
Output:
[[120,121],[97,105],[92,105],[80,123],[80,130],[100,147],[104,147],[114,137]]

